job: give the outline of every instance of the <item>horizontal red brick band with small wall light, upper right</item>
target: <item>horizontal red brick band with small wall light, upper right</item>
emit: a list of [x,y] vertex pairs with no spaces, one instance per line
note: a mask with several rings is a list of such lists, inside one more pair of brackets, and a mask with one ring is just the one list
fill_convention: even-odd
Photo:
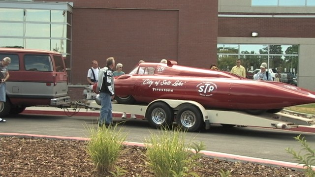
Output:
[[253,31],[259,37],[315,37],[315,18],[219,17],[218,21],[220,37],[250,37]]

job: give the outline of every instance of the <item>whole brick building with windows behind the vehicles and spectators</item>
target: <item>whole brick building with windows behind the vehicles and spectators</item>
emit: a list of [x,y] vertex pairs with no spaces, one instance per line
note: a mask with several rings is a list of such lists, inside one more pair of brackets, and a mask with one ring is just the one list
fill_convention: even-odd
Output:
[[[24,9],[21,24],[44,23],[25,20],[33,9],[51,9],[51,14],[61,10],[65,21],[47,24],[66,25],[63,35],[42,38],[63,41],[51,42],[49,50],[55,43],[56,49],[65,45],[61,53],[66,56],[70,85],[87,84],[91,61],[97,60],[102,67],[105,59],[112,56],[117,63],[124,64],[126,72],[140,59],[174,59],[182,65],[205,68],[218,63],[225,70],[232,67],[235,59],[241,58],[247,70],[256,69],[260,62],[266,61],[269,67],[280,72],[297,75],[299,87],[315,90],[315,4],[309,0],[304,0],[305,5],[282,5],[279,0],[274,1],[278,3],[255,4],[257,0],[0,0],[0,23],[15,22],[2,15],[1,12],[7,14],[4,9]],[[23,37],[27,41],[40,38]],[[13,45],[1,43],[7,38],[8,33],[0,31],[0,46]],[[16,34],[12,38],[22,37]],[[25,41],[23,46],[26,47]],[[281,50],[274,52],[273,47]],[[227,63],[223,62],[224,58]],[[276,62],[277,59],[282,63]]]

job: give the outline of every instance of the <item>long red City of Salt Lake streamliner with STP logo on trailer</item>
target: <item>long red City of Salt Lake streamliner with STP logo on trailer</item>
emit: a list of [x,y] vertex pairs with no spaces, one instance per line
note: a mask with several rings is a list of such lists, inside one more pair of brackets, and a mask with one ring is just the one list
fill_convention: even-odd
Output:
[[277,113],[284,107],[315,103],[315,92],[281,82],[254,81],[224,71],[167,63],[139,63],[115,79],[121,104],[156,99],[193,100],[206,109]]

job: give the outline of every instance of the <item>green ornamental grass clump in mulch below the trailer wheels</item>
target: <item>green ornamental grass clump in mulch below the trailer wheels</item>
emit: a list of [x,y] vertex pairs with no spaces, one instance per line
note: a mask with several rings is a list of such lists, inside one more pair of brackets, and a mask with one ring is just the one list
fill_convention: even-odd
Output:
[[198,177],[193,172],[189,173],[189,170],[195,165],[194,155],[199,155],[199,148],[203,146],[195,146],[196,153],[192,153],[188,150],[192,144],[185,143],[185,135],[186,132],[180,128],[175,130],[164,128],[160,134],[151,133],[150,140],[146,140],[148,163],[156,177],[184,177],[187,175]]

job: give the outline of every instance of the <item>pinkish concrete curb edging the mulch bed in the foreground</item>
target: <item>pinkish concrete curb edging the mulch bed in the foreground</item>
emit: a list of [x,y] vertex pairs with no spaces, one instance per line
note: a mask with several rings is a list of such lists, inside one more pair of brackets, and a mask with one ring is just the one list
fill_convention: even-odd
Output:
[[[28,138],[47,138],[47,139],[79,140],[79,141],[90,140],[89,138],[82,138],[82,137],[63,137],[63,136],[35,135],[35,134],[24,134],[24,133],[0,133],[0,136],[16,136],[16,137],[28,137]],[[128,146],[145,147],[143,143],[124,142],[124,144]],[[200,152],[209,157],[224,159],[228,161],[244,161],[244,162],[252,162],[252,163],[265,164],[265,165],[271,165],[271,166],[282,166],[282,167],[293,168],[293,169],[304,169],[303,165],[292,163],[292,162],[284,162],[284,161],[262,159],[262,158],[255,158],[255,157],[242,156],[242,155],[234,155],[234,154],[221,153],[221,152],[215,152],[215,151],[209,151],[209,150],[202,150]]]

